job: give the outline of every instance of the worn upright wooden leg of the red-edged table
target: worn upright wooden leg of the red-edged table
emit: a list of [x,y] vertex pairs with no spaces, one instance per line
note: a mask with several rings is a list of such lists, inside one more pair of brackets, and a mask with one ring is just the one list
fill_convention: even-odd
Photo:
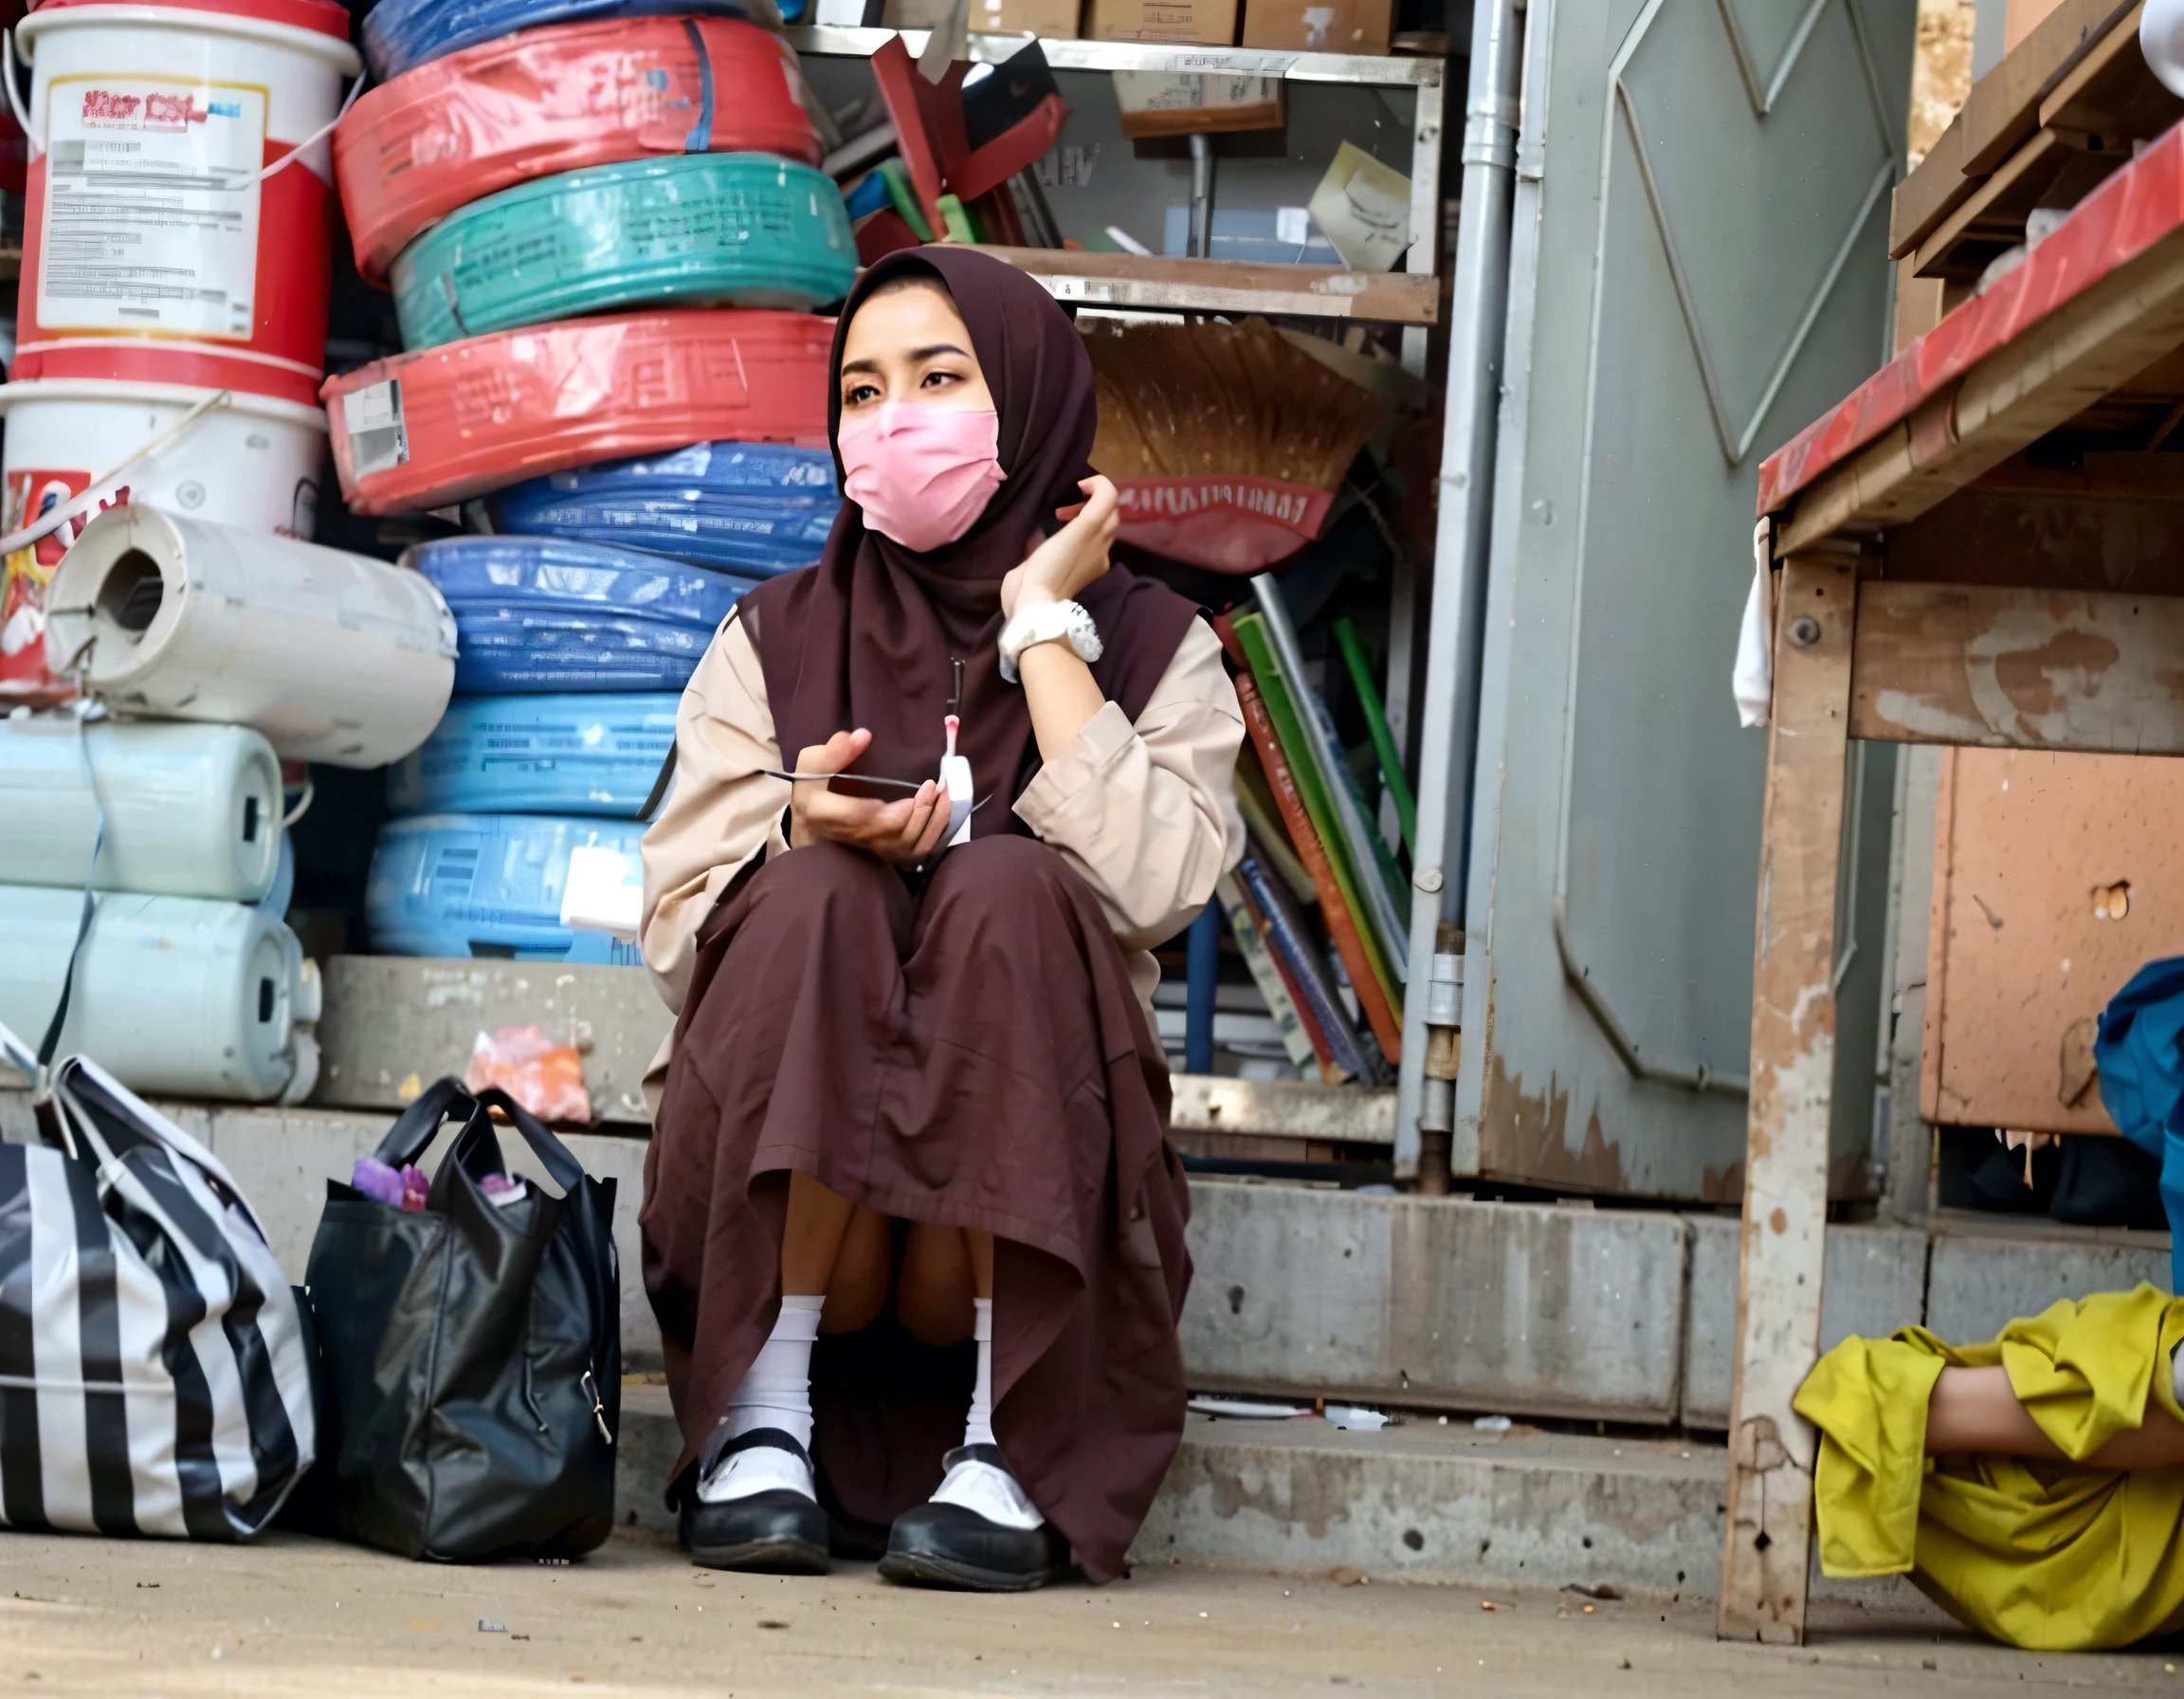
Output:
[[1791,555],[1782,568],[1752,965],[1752,1120],[1717,1616],[1723,1640],[1804,1640],[1815,1435],[1791,1398],[1819,1361],[1835,887],[1856,598],[1854,566],[1841,555]]

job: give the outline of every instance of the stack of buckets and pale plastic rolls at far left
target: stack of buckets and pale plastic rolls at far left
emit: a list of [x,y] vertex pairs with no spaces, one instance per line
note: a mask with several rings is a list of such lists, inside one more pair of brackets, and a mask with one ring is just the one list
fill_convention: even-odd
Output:
[[[325,456],[347,11],[216,4],[46,0],[15,35],[0,1020],[37,1044],[70,985],[59,1055],[135,1090],[299,1101],[319,994],[284,924],[284,762],[299,782],[304,760],[413,749],[454,633],[415,577],[297,542]],[[57,509],[79,511],[20,535]],[[33,716],[72,668],[131,718]]]

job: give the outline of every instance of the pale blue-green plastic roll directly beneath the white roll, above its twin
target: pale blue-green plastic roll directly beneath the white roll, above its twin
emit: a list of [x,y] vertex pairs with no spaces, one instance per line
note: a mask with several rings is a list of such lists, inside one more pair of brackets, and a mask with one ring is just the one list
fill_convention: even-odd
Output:
[[[94,795],[96,784],[96,795]],[[280,869],[280,760],[247,725],[0,721],[0,884],[258,902]]]

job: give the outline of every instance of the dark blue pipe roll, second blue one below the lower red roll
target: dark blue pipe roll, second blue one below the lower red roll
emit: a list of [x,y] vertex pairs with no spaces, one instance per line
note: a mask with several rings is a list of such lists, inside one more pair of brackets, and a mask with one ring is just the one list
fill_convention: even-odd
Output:
[[454,611],[459,694],[681,690],[753,579],[555,537],[446,537],[402,557]]

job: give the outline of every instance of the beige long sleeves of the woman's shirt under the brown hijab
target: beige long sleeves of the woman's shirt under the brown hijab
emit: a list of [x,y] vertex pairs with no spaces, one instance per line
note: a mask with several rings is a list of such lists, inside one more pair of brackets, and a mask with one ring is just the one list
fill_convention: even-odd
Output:
[[[1234,771],[1243,710],[1221,644],[1192,620],[1136,725],[1116,703],[1016,799],[1016,815],[1092,887],[1129,957],[1151,1020],[1160,965],[1151,948],[1177,932],[1243,854]],[[743,620],[721,627],[675,716],[675,791],[644,834],[644,965],[681,1013],[697,930],[756,856],[786,854],[782,810],[791,767],[773,734],[767,677]],[[666,1048],[646,1077],[657,1107]]]

